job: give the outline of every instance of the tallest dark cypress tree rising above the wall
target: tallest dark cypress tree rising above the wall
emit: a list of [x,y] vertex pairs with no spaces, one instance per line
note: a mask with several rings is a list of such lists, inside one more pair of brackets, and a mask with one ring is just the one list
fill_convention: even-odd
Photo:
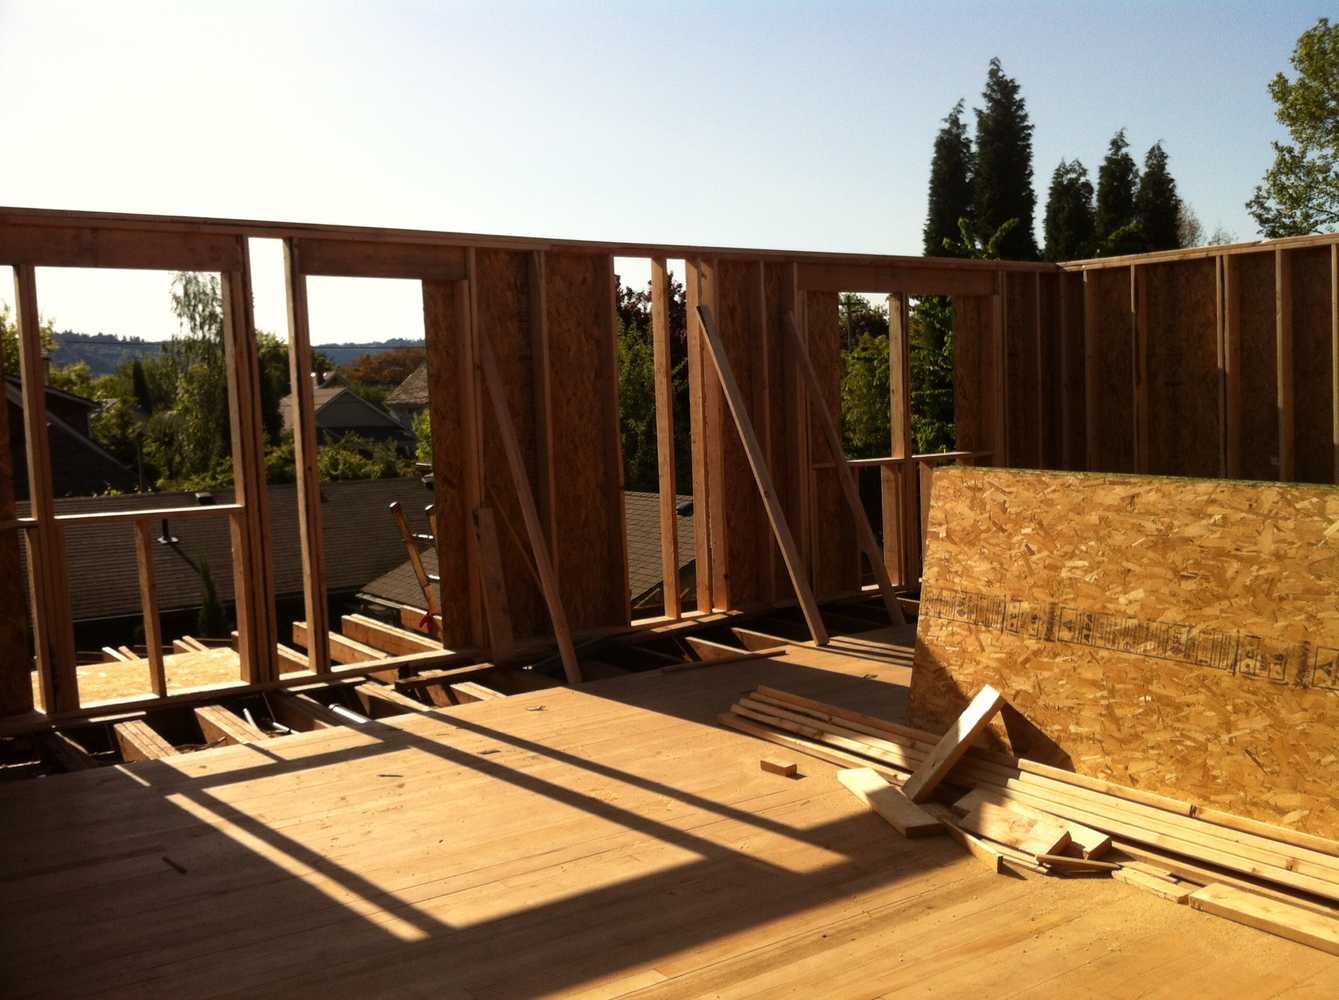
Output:
[[1004,75],[999,59],[991,59],[981,100],[984,107],[976,110],[976,232],[984,244],[1016,218],[1018,225],[1000,242],[1000,256],[1036,260],[1032,123],[1018,80]]

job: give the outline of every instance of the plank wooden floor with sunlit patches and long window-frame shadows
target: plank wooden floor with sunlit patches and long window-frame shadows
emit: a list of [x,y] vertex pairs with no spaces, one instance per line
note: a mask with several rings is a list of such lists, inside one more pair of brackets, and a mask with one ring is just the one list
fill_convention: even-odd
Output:
[[714,724],[898,718],[838,640],[0,788],[0,995],[1334,997],[1339,961],[1109,880],[907,841]]

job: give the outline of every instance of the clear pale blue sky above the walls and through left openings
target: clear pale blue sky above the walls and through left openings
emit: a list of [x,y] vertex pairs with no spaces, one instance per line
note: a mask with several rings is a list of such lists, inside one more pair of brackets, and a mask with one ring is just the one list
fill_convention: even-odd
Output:
[[[998,55],[1035,124],[1038,228],[1059,158],[1095,174],[1125,126],[1139,157],[1164,142],[1206,230],[1247,240],[1280,135],[1265,83],[1327,13],[0,0],[0,203],[920,253],[935,131]],[[281,332],[276,249],[254,265]],[[39,295],[58,328],[174,328],[162,274],[44,270]],[[418,336],[415,296],[316,282],[313,340]]]

